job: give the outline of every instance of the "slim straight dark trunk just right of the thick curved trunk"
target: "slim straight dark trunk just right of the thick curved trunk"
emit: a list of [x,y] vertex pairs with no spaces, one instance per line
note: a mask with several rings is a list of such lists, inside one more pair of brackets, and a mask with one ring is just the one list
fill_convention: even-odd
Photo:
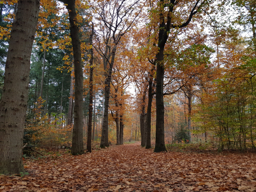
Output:
[[[90,44],[92,45],[92,36],[93,36],[93,26],[92,34],[90,35]],[[90,50],[90,90],[89,90],[89,115],[88,115],[88,126],[87,126],[87,147],[86,151],[92,152],[92,103],[93,103],[93,49]]]

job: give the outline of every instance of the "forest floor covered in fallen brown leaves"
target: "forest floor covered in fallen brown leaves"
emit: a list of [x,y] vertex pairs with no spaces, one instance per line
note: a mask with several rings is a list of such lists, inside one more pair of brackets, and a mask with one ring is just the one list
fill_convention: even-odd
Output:
[[153,153],[136,142],[25,160],[29,175],[0,176],[0,191],[256,191],[255,153]]

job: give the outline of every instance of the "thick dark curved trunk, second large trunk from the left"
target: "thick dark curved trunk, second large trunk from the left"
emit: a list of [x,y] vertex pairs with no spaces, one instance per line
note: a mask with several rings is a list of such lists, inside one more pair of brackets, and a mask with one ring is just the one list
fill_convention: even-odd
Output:
[[83,93],[84,93],[84,77],[81,43],[79,39],[79,28],[77,26],[76,0],[61,0],[66,4],[70,23],[70,36],[74,54],[74,71],[75,71],[75,104],[74,104],[74,126],[72,135],[72,155],[84,153],[83,142]]

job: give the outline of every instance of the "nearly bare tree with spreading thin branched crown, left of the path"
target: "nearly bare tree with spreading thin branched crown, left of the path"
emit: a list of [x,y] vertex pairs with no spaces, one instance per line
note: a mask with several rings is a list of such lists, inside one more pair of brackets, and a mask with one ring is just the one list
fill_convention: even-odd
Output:
[[[99,40],[98,52],[103,58],[103,65],[105,70],[105,106],[102,125],[102,134],[100,141],[100,148],[109,146],[108,143],[108,106],[109,106],[109,93],[112,69],[116,56],[116,48],[122,36],[127,33],[134,25],[139,13],[143,6],[139,4],[139,1],[128,2],[126,0],[110,0],[97,3],[98,8],[94,8],[97,11],[97,19],[100,21],[101,33],[103,37],[103,44],[105,47],[102,49],[102,45]],[[131,18],[132,14],[135,14]],[[112,37],[112,38],[111,38]],[[122,121],[120,121],[122,122]]]

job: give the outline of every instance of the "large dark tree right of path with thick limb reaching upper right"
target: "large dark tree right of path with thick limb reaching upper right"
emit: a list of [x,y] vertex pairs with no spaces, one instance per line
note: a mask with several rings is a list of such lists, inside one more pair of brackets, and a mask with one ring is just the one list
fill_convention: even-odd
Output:
[[[171,0],[165,3],[164,0],[160,0],[158,3],[159,8],[159,33],[157,47],[159,51],[156,54],[156,146],[154,152],[167,151],[164,143],[164,46],[167,42],[171,28],[184,28],[188,26],[195,15],[200,9],[198,6],[200,0],[197,0],[194,4],[188,19],[182,24],[172,24],[174,8],[179,4],[179,1]],[[164,8],[168,9],[167,15],[165,15]]]

